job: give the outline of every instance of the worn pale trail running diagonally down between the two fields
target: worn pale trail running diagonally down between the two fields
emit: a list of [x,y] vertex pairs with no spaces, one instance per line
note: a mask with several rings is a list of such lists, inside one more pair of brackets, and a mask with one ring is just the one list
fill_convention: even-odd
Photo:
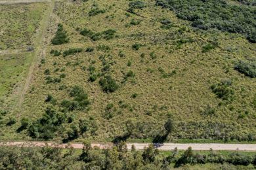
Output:
[[[37,0],[33,0],[33,1],[37,1]],[[44,18],[41,20],[41,25],[37,30],[37,35],[35,39],[35,55],[33,56],[33,61],[28,71],[26,82],[18,98],[18,105],[16,107],[18,109],[20,109],[22,103],[24,102],[25,94],[28,91],[28,88],[30,87],[30,82],[32,81],[33,73],[35,72],[35,69],[37,68],[39,61],[41,60],[41,58],[45,57],[47,44],[48,44],[47,43],[48,42],[47,27],[51,22],[51,16],[53,16],[53,9],[54,9],[54,1],[51,1],[51,3],[49,3],[49,8],[45,13]],[[20,112],[18,113],[18,117],[20,117]]]

